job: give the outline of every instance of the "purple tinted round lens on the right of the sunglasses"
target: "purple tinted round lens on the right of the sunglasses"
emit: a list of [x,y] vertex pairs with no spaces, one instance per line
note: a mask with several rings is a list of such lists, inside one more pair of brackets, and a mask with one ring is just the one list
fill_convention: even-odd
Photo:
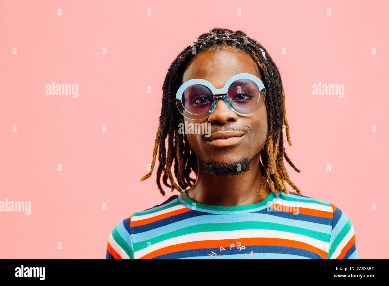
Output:
[[257,84],[249,79],[238,79],[228,88],[228,100],[237,109],[253,107],[260,97]]

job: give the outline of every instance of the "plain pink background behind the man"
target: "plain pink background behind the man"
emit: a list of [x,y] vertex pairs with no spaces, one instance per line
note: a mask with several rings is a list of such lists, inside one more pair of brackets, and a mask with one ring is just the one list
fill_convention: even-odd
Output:
[[[155,173],[139,181],[152,160],[161,85],[177,54],[214,27],[243,30],[279,67],[293,143],[286,152],[301,170],[286,163],[292,181],[349,216],[361,259],[388,258],[388,8],[385,1],[1,0],[0,200],[31,201],[31,214],[0,212],[0,258],[102,259],[121,219],[172,195],[167,188],[160,195]],[[46,95],[53,81],[78,84],[78,98]],[[312,95],[319,81],[344,84],[345,97]]]

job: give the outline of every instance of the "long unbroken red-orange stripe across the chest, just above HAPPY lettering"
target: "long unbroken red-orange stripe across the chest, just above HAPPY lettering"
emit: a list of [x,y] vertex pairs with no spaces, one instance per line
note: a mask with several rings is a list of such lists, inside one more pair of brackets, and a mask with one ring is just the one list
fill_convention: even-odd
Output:
[[151,253],[142,256],[139,259],[151,259],[163,254],[168,254],[168,253],[173,253],[173,252],[178,252],[178,251],[188,250],[188,249],[219,248],[220,246],[223,246],[224,248],[227,247],[230,248],[231,244],[237,244],[238,241],[241,242],[242,246],[246,246],[245,249],[246,251],[247,250],[250,251],[250,245],[255,245],[255,246],[258,245],[258,240],[260,242],[259,245],[296,247],[300,249],[305,249],[312,253],[317,253],[323,259],[327,259],[328,257],[328,253],[326,251],[323,251],[305,242],[300,242],[300,241],[290,240],[290,239],[276,239],[272,237],[270,238],[251,237],[251,238],[244,238],[244,239],[201,240],[201,241],[185,242],[185,243],[175,244],[175,245],[163,247],[161,249],[157,249],[155,251],[152,251]]

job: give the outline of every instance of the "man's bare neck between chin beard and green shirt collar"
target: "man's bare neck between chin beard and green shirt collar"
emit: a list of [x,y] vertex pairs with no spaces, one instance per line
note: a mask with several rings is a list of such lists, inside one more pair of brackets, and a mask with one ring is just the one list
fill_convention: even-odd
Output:
[[198,175],[195,184],[186,191],[189,198],[205,205],[240,206],[264,200],[270,194],[268,182],[262,195],[258,195],[262,180],[259,169],[259,154],[250,161],[250,170],[239,175],[223,177],[211,175],[204,169],[204,162],[198,159]]

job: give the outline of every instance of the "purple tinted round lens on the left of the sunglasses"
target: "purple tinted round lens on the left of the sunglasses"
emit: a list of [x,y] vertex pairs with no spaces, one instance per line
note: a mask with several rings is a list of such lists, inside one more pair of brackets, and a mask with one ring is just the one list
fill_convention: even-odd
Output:
[[203,114],[212,107],[214,96],[212,91],[202,84],[188,86],[182,94],[182,104],[186,111]]

